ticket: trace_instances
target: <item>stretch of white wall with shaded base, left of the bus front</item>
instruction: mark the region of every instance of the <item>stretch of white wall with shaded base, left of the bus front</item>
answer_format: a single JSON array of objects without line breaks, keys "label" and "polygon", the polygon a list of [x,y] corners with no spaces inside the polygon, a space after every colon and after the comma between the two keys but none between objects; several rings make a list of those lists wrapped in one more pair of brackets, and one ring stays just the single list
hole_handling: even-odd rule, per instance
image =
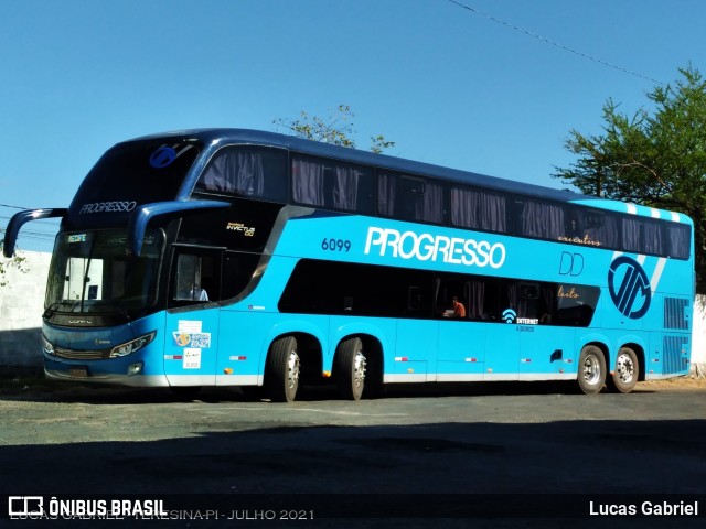
[{"label": "stretch of white wall with shaded base, left of the bus front", "polygon": [[[21,269],[6,264],[0,287],[0,371],[34,370],[42,367],[41,337],[44,291],[50,253],[19,251],[26,260]],[[23,272],[22,270],[26,270]]]}]

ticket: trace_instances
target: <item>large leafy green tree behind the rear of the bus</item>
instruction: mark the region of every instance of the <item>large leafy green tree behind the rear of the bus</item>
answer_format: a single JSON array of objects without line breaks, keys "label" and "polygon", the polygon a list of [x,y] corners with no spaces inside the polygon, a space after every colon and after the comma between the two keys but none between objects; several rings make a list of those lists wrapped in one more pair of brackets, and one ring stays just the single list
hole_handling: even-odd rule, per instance
[{"label": "large leafy green tree behind the rear of the bus", "polygon": [[678,72],[646,95],[649,109],[624,115],[608,99],[603,133],[571,130],[565,147],[578,159],[554,176],[589,195],[692,217],[697,292],[706,293],[706,82],[691,66]]}]

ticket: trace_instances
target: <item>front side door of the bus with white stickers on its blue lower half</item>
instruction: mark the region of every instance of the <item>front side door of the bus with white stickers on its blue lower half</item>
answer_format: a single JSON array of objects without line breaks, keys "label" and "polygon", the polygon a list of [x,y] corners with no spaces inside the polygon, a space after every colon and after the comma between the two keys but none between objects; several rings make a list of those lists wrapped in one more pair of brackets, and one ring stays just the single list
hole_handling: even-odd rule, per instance
[{"label": "front side door of the bus with white stickers on its blue lower half", "polygon": [[170,276],[164,373],[172,386],[213,386],[222,252],[178,247]]}]

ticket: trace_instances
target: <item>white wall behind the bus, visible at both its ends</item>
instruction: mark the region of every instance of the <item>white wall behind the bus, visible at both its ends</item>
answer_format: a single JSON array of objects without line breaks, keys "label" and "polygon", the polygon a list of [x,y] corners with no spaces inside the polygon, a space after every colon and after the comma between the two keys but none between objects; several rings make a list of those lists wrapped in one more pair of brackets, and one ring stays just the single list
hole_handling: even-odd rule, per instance
[{"label": "white wall behind the bus, visible at both its ends", "polygon": [[[41,326],[50,253],[20,252],[26,258],[23,273],[6,272],[8,284],[0,287],[0,371],[41,368]],[[706,375],[706,296],[694,306],[692,366]]]}]

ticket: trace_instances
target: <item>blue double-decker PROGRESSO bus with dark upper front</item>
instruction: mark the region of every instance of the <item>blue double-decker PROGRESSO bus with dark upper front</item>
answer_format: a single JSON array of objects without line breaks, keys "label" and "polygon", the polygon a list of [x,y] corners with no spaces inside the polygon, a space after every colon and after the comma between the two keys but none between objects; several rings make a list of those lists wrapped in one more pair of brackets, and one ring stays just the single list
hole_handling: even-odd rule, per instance
[{"label": "blue double-decker PROGRESSO bus with dark upper front", "polygon": [[52,379],[264,387],[688,373],[685,215],[240,129],[109,149],[61,217]]}]

